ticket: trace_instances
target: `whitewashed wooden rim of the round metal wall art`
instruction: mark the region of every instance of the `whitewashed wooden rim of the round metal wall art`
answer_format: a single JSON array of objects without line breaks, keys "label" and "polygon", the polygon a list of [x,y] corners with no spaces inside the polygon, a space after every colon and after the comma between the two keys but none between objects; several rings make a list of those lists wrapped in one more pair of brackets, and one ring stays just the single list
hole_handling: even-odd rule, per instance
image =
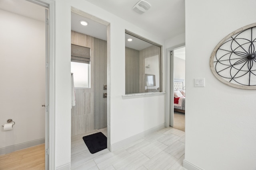
[{"label": "whitewashed wooden rim of the round metal wall art", "polygon": [[214,48],[214,50],[212,51],[212,54],[211,54],[211,57],[210,57],[210,68],[212,70],[212,73],[214,74],[214,76],[216,78],[218,78],[218,80],[220,80],[221,82],[223,82],[224,84],[227,84],[228,86],[232,86],[232,87],[235,87],[235,88],[242,88],[242,89],[256,89],[256,86],[247,86],[247,85],[238,85],[238,84],[233,84],[233,83],[230,83],[226,80],[224,80],[222,78],[222,76],[220,76],[216,70],[215,70],[215,67],[214,67],[214,57],[216,55],[216,52],[217,50],[219,49],[219,47],[226,42],[226,40],[230,37],[232,37],[233,35],[236,35],[248,28],[251,28],[251,27],[256,27],[256,23],[252,23],[250,25],[246,25],[244,27],[241,27],[239,29],[237,29],[236,31],[233,31],[232,33],[230,33],[229,35],[227,35],[226,37],[224,37],[224,39],[222,39],[217,45],[216,47]]}]

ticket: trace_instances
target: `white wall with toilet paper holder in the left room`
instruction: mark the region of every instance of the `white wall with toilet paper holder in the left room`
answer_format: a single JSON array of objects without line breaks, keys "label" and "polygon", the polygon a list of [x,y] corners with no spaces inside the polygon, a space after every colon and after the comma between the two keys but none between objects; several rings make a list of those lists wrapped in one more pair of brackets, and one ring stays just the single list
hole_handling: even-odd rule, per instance
[{"label": "white wall with toilet paper holder in the left room", "polygon": [[43,139],[45,100],[44,22],[0,10],[0,149]]}]

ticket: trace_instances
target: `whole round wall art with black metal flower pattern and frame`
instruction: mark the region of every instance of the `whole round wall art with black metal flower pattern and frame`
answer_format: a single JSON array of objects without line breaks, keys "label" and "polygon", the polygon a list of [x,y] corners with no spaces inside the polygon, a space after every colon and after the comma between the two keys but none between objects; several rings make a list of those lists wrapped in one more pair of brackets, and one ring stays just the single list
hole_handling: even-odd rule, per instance
[{"label": "whole round wall art with black metal flower pattern and frame", "polygon": [[222,39],[212,51],[210,68],[229,86],[256,89],[256,23]]}]

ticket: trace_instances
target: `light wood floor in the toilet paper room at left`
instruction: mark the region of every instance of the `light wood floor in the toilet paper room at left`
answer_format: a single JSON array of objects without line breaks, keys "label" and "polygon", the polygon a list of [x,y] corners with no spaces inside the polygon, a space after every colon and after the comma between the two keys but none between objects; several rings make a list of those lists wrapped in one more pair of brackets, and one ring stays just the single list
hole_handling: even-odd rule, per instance
[{"label": "light wood floor in the toilet paper room at left", "polygon": [[0,156],[0,170],[44,170],[44,144]]}]

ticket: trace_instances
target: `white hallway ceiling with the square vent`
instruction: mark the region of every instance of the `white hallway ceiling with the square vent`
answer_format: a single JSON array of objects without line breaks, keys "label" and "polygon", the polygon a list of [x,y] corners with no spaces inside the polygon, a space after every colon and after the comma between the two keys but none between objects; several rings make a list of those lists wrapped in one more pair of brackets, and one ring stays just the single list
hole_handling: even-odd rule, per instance
[{"label": "white hallway ceiling with the square vent", "polygon": [[86,1],[165,40],[185,33],[185,0],[146,0],[151,8],[144,14],[132,10],[139,0]]}]

